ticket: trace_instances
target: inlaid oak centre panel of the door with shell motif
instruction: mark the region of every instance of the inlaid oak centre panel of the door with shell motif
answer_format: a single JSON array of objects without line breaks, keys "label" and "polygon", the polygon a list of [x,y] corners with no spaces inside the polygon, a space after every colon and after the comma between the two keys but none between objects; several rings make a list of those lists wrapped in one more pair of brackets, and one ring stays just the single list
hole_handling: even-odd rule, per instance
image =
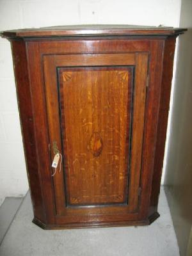
[{"label": "inlaid oak centre panel of the door with shell motif", "polygon": [[67,205],[127,204],[133,70],[58,68]]}]

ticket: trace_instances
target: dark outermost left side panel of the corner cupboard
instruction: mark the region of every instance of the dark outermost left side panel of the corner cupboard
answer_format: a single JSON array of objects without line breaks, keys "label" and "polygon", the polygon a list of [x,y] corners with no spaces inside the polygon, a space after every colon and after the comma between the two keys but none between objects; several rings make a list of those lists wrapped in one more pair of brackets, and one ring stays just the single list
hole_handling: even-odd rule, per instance
[{"label": "dark outermost left side panel of the corner cupboard", "polygon": [[15,83],[17,88],[17,100],[19,104],[22,140],[26,157],[29,189],[33,203],[33,211],[36,218],[45,220],[42,201],[42,191],[38,176],[38,164],[36,162],[35,136],[33,129],[33,112],[31,107],[31,95],[28,77],[28,62],[26,56],[26,44],[23,41],[12,41],[13,66]]}]

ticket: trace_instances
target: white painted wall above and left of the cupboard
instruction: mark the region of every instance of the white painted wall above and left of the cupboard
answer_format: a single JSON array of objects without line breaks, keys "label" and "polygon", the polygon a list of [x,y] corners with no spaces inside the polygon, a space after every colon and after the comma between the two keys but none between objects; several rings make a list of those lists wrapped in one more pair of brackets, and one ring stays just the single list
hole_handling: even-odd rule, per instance
[{"label": "white painted wall above and left of the cupboard", "polygon": [[[0,31],[66,24],[179,26],[180,0],[0,0]],[[0,204],[28,189],[10,43],[0,38]]]}]

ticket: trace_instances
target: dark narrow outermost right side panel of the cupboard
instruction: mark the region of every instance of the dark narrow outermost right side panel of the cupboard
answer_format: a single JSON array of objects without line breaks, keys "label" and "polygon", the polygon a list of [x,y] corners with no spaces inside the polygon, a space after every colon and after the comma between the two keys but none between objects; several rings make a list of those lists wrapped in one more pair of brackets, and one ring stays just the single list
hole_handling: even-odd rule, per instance
[{"label": "dark narrow outermost right side panel of the cupboard", "polygon": [[161,84],[161,101],[159,108],[159,121],[157,128],[156,153],[154,159],[154,175],[152,180],[152,194],[150,198],[150,211],[157,210],[159,198],[161,173],[163,168],[164,145],[170,107],[170,92],[173,76],[173,59],[175,52],[175,37],[168,38],[164,44],[163,74]]}]

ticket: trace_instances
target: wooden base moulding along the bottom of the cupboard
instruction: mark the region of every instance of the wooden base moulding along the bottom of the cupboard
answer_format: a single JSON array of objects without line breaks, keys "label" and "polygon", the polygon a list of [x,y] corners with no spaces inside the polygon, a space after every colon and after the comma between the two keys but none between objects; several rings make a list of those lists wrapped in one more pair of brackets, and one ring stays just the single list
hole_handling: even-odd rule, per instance
[{"label": "wooden base moulding along the bottom of the cupboard", "polygon": [[146,220],[130,220],[130,221],[113,221],[113,222],[97,222],[97,223],[66,223],[66,224],[45,224],[37,218],[33,219],[33,223],[45,230],[52,229],[71,229],[71,228],[101,228],[101,227],[127,227],[127,226],[146,226],[150,225],[157,218],[159,213],[154,212]]}]

